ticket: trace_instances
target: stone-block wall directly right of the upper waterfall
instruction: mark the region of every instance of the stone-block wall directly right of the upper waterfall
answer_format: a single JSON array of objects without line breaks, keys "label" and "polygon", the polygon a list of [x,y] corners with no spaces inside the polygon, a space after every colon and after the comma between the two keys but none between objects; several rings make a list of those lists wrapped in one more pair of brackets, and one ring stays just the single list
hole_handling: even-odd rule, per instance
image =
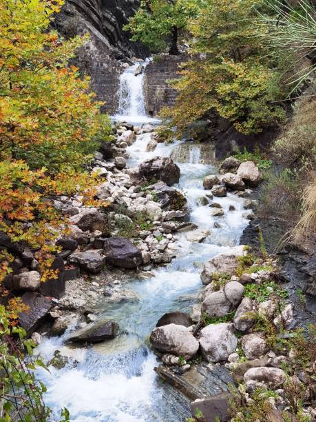
[{"label": "stone-block wall directly right of the upper waterfall", "polygon": [[164,106],[173,106],[176,90],[170,88],[167,81],[178,77],[178,66],[185,57],[163,56],[158,61],[151,61],[144,75],[144,92],[146,112],[155,116]]}]

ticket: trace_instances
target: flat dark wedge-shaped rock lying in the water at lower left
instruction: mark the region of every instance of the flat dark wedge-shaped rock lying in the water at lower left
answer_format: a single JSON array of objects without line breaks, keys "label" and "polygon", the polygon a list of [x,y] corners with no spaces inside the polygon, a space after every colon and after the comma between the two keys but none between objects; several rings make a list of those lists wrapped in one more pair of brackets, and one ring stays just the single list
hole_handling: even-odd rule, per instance
[{"label": "flat dark wedge-shaped rock lying in the water at lower left", "polygon": [[98,321],[90,323],[81,330],[76,330],[68,337],[67,341],[75,343],[98,343],[107,339],[114,339],[118,330],[115,321]]}]

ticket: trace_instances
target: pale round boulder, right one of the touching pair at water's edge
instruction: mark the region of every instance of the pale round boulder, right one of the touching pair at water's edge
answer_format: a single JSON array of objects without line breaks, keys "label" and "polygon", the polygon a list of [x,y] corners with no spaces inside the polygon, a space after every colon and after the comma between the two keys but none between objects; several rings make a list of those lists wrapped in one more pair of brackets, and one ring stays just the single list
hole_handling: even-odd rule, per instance
[{"label": "pale round boulder, right one of the touching pair at water's edge", "polygon": [[200,332],[202,356],[209,362],[227,361],[236,347],[237,337],[231,323],[210,324]]}]

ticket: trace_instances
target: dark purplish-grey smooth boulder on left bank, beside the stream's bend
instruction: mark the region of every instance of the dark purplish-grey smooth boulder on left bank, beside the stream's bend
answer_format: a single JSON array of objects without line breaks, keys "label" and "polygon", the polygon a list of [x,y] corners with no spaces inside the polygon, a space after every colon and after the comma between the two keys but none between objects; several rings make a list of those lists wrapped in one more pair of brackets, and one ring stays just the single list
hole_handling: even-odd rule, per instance
[{"label": "dark purplish-grey smooth boulder on left bank, beside the stream's bend", "polygon": [[125,237],[106,239],[103,248],[106,263],[114,267],[136,268],[143,263],[140,250]]}]

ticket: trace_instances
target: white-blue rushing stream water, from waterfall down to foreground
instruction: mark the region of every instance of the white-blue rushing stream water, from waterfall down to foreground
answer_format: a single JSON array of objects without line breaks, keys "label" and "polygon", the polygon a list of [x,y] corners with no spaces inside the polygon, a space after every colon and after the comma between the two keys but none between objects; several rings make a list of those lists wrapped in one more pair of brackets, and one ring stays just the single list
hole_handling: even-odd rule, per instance
[{"label": "white-blue rushing stream water, from waterfall down to foreground", "polygon": [[[152,122],[145,116],[143,75],[134,76],[136,65],[127,69],[121,79],[120,121]],[[129,115],[130,114],[130,115]],[[146,152],[150,134],[138,135],[129,150],[129,166],[155,155],[177,159],[180,141],[159,143],[154,152]],[[100,305],[103,316],[115,319],[120,332],[114,340],[87,348],[72,350],[72,361],[65,368],[50,368],[41,372],[48,387],[45,402],[52,408],[52,420],[59,420],[60,410],[66,407],[76,422],[177,422],[183,416],[174,414],[166,399],[164,386],[158,383],[154,367],[156,356],[148,347],[148,336],[156,321],[171,310],[191,311],[202,288],[202,263],[238,244],[247,220],[243,217],[243,199],[231,194],[216,198],[224,209],[224,217],[211,217],[212,208],[200,205],[200,198],[209,193],[202,186],[203,177],[215,174],[211,164],[200,162],[200,148],[191,145],[189,162],[178,163],[181,177],[178,188],[187,197],[191,221],[200,230],[209,231],[203,243],[189,242],[185,234],[178,240],[178,257],[165,267],[152,272],[151,277],[133,278],[124,287],[138,294],[138,301]],[[229,205],[235,210],[229,211]],[[218,221],[221,228],[215,229]],[[47,338],[39,352],[50,359],[54,350],[64,348],[62,337]],[[188,415],[189,416],[189,415]]]}]

